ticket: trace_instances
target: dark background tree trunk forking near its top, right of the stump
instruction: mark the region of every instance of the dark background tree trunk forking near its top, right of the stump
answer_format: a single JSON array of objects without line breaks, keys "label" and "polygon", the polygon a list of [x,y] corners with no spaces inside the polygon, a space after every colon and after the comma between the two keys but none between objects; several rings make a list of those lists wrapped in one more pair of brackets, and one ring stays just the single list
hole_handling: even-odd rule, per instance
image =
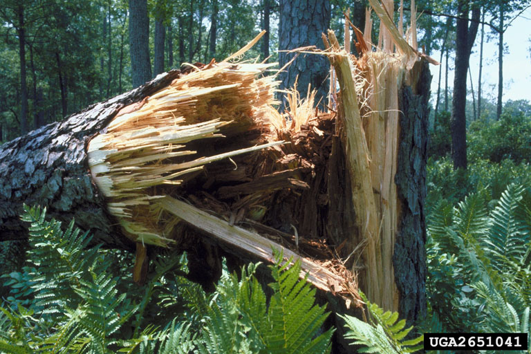
[{"label": "dark background tree trunk forking near its top, right of the stump", "polygon": [[[457,1],[456,61],[454,93],[451,101],[451,157],[454,161],[454,169],[467,168],[467,118],[465,115],[467,71],[481,15],[480,8],[470,9],[469,5],[467,0]],[[470,10],[472,10],[472,21],[469,21]]]}]

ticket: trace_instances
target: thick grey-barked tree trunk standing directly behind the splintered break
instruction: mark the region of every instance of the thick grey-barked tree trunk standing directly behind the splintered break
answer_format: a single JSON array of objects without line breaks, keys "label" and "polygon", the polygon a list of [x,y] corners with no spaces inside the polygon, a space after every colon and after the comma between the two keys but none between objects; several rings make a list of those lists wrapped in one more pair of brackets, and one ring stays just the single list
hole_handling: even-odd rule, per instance
[{"label": "thick grey-barked tree trunk standing directly behind the splintered break", "polygon": [[[323,48],[321,34],[330,26],[330,2],[328,0],[280,0],[279,50],[291,50],[304,46]],[[295,54],[280,52],[279,66],[288,64]],[[330,65],[324,56],[299,55],[280,74],[280,87],[290,88],[297,81],[297,88],[306,95],[308,84],[317,90],[315,102],[324,104],[328,93]]]}]

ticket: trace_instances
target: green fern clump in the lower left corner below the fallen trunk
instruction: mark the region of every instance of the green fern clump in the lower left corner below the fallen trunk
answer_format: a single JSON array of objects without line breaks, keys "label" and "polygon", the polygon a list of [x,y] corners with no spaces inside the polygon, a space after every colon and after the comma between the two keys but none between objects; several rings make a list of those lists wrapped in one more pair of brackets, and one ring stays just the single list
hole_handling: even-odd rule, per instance
[{"label": "green fern clump in the lower left corner below the fallen trunk", "polygon": [[46,209],[24,209],[22,220],[31,225],[25,273],[30,281],[23,284],[32,290],[32,300],[29,310],[17,299],[10,306],[18,306],[18,313],[3,310],[11,328],[19,328],[6,343],[27,342],[30,353],[110,353],[117,342],[113,335],[136,306],[124,301],[124,293],[118,295],[117,279],[106,271],[99,246],[87,249],[91,236],[73,221],[63,232],[58,221],[46,221]]}]

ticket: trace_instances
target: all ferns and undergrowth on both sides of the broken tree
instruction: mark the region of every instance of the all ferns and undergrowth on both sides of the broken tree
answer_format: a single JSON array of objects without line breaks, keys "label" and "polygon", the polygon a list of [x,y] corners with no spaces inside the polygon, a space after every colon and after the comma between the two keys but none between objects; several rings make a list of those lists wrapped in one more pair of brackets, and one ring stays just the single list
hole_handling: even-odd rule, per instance
[{"label": "all ferns and undergrowth on both sides of the broken tree", "polygon": [[[412,353],[427,331],[530,333],[530,117],[472,122],[466,171],[440,148],[449,134],[444,115],[438,122],[427,169],[427,319],[407,328],[367,301],[368,322],[342,317],[360,353]],[[26,261],[2,278],[2,353],[330,352],[337,328],[324,325],[330,314],[298,278],[299,263],[288,269],[281,254],[268,267],[225,268],[212,294],[183,277],[185,254],[162,254],[138,286],[131,254],[86,248],[91,236],[73,223],[65,230],[45,210],[25,209]]]}]

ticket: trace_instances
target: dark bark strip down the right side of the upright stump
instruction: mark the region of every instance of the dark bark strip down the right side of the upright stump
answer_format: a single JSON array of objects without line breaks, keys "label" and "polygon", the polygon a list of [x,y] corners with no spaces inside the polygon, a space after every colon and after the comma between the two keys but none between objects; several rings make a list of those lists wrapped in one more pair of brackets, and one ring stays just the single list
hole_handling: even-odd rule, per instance
[{"label": "dark bark strip down the right side of the upright stump", "polygon": [[[415,88],[404,86],[400,101],[400,147],[395,176],[401,201],[400,225],[393,253],[399,312],[408,325],[426,316],[426,161],[431,74],[425,61]],[[415,68],[413,68],[413,71]],[[416,93],[414,92],[416,91]]]}]

